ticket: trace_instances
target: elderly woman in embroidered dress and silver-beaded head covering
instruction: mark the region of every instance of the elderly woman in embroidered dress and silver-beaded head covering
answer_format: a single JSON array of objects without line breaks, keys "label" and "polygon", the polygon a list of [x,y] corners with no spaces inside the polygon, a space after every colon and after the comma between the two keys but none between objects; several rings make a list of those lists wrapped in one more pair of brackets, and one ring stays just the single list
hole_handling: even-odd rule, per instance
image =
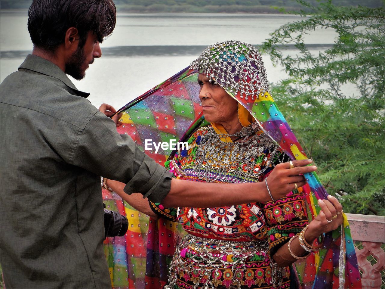
[{"label": "elderly woman in embroidered dress and silver-beaded head covering", "polygon": [[[271,171],[292,168],[291,160],[305,156],[271,99],[258,50],[236,41],[218,43],[192,62],[191,71],[198,74],[204,117],[187,130],[182,140],[189,146],[171,155],[166,168],[185,180],[264,182],[271,193]],[[314,185],[312,177],[306,175]],[[165,208],[134,200],[114,181],[108,184],[143,212],[179,222],[186,231],[165,288],[290,288],[300,283],[311,287],[318,278],[315,256],[323,246],[323,234],[343,223],[336,198],[311,201],[309,196],[322,196],[321,186],[294,183],[288,196],[275,200],[271,195],[266,203]],[[305,258],[307,268],[300,263]],[[297,260],[302,272],[288,267]],[[325,276],[317,288],[332,287],[333,277]]]}]

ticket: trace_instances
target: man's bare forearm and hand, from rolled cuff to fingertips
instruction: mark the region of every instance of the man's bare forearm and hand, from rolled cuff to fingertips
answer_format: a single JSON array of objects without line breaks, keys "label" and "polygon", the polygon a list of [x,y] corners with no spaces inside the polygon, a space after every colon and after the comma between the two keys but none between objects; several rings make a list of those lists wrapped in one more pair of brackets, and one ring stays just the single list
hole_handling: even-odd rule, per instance
[{"label": "man's bare forearm and hand, from rolled cuff to fingertips", "polygon": [[[301,174],[316,170],[316,166],[306,166],[311,160],[293,161],[295,168],[290,168],[289,163],[276,165],[267,177],[268,186],[274,199],[284,197],[295,188],[306,184]],[[125,184],[117,181],[108,181],[108,185],[122,198],[128,198],[123,191]],[[149,195],[151,200],[151,195]],[[147,200],[143,200],[147,203]],[[266,188],[266,183],[205,183],[188,180],[171,180],[171,189],[162,200],[164,207],[195,207],[208,208],[229,205],[238,205],[251,202],[268,202],[271,197]]]}]

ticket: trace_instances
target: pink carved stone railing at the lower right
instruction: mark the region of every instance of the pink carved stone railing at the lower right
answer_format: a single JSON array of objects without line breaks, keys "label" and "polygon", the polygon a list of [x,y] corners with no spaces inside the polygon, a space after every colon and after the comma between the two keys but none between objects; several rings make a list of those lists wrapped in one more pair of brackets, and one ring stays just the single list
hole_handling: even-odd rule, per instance
[{"label": "pink carved stone railing at the lower right", "polygon": [[363,289],[385,289],[385,217],[346,214]]}]

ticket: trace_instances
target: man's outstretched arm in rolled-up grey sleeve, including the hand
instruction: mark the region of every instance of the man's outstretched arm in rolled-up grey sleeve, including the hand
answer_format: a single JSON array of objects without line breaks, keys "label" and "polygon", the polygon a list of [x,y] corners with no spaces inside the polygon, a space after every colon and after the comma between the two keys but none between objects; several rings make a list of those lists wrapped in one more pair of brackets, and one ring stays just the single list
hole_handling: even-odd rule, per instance
[{"label": "man's outstretched arm in rolled-up grey sleeve, including the hand", "polygon": [[[100,109],[104,113],[106,109],[114,110],[108,105]],[[96,113],[80,136],[74,164],[125,183],[122,194],[141,193],[165,207],[208,208],[271,200],[265,182],[225,184],[172,178],[166,168],[143,153],[129,136],[120,136],[116,125]],[[296,186],[305,185],[302,174],[316,170],[315,166],[306,166],[310,163],[311,160],[296,160],[295,168],[290,168],[289,163],[276,165],[266,178],[273,198],[282,198]]]}]

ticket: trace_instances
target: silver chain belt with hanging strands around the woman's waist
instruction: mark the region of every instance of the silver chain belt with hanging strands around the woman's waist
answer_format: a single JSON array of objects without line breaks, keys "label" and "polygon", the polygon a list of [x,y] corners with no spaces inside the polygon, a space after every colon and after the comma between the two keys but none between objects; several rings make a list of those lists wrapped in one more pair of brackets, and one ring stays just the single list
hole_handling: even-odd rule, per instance
[{"label": "silver chain belt with hanging strands around the woman's waist", "polygon": [[[259,260],[268,260],[269,245],[267,240],[252,242],[234,242],[196,237],[190,234],[184,236],[176,247],[170,264],[169,284],[164,289],[175,288],[177,275],[199,275],[194,281],[194,288],[214,288],[212,279],[219,268],[231,268],[233,276],[239,271],[245,271],[245,262],[255,255]],[[272,261],[272,260],[271,260]],[[277,267],[271,262],[272,277],[278,277]],[[192,280],[192,278],[189,278]],[[273,278],[276,279],[276,278]],[[204,284],[199,281],[204,280]],[[236,283],[236,279],[233,279]],[[278,281],[276,279],[275,281]],[[278,281],[279,282],[279,281]]]}]

